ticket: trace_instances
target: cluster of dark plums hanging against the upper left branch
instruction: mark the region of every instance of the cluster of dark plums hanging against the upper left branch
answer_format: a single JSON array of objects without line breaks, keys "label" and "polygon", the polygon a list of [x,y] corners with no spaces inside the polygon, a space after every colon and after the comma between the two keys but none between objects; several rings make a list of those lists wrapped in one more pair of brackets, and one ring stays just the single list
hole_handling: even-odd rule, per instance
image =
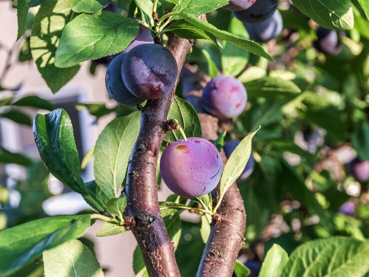
[{"label": "cluster of dark plums hanging against the upper left branch", "polygon": [[107,66],[105,85],[116,102],[134,106],[168,95],[177,74],[173,54],[154,44],[150,31],[140,25],[133,41]]}]

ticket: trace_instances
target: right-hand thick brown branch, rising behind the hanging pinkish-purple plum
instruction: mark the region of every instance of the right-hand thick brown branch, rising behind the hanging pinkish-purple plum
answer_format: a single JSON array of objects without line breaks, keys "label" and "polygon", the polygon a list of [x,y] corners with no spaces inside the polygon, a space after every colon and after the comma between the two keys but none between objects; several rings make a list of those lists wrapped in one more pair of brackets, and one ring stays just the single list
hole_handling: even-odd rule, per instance
[{"label": "right-hand thick brown branch, rising behind the hanging pinkish-purple plum", "polygon": [[[191,97],[189,99],[194,102],[196,102],[196,97],[201,95],[201,88],[198,84],[202,82],[203,77],[200,76],[198,72],[191,72],[188,67],[182,70],[182,83],[185,84],[182,86],[182,93],[185,97]],[[196,78],[199,80],[197,83]],[[206,139],[216,139],[217,124],[214,125],[214,118],[211,115],[200,117],[202,136]],[[221,155],[225,164],[226,157],[223,151],[221,151]],[[214,203],[219,196],[218,192],[219,188],[217,187],[215,189],[216,196],[213,197]],[[197,277],[232,275],[238,251],[243,245],[245,226],[246,212],[243,199],[237,184],[233,183],[225,193],[218,213],[211,223],[210,235],[202,253]]]}]

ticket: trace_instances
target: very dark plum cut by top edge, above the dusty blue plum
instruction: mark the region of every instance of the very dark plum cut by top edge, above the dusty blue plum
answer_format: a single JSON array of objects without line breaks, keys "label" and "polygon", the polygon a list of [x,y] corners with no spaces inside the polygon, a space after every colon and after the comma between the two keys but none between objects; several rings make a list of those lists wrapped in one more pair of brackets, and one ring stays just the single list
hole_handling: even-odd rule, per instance
[{"label": "very dark plum cut by top edge, above the dusty blue plum", "polygon": [[257,0],[251,7],[244,10],[233,11],[233,14],[243,23],[261,23],[273,15],[277,5],[278,0]]}]

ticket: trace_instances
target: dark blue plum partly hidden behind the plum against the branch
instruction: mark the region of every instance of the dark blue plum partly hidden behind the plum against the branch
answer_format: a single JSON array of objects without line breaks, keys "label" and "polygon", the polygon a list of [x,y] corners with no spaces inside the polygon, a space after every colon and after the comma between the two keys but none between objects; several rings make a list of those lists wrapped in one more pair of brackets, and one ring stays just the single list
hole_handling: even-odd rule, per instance
[{"label": "dark blue plum partly hidden behind the plum against the branch", "polygon": [[106,68],[105,85],[110,97],[125,106],[135,106],[142,103],[144,99],[134,96],[125,86],[121,78],[121,64],[126,54],[121,53],[110,61]]}]

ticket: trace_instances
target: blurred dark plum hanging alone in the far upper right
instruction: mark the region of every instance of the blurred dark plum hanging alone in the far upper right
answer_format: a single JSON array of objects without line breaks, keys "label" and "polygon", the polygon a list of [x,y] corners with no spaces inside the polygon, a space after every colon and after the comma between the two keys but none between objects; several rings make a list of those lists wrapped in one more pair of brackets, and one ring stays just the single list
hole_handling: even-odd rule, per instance
[{"label": "blurred dark plum hanging alone in the far upper right", "polygon": [[335,55],[341,49],[341,42],[335,30],[329,30],[319,27],[316,30],[317,39],[314,41],[314,47],[324,54]]}]

